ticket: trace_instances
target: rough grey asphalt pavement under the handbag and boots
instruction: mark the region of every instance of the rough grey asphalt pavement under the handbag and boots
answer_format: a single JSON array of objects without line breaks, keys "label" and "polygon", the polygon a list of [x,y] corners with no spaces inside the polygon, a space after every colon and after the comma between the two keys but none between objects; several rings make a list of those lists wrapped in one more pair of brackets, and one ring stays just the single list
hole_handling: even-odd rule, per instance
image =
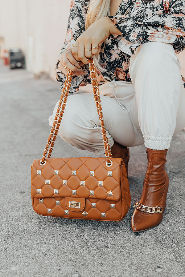
[{"label": "rough grey asphalt pavement under the handbag and boots", "polygon": [[[72,96],[70,96],[72,97]],[[167,208],[157,227],[133,233],[130,219],[142,191],[144,145],[130,148],[132,204],[119,222],[37,215],[31,205],[30,165],[42,156],[48,117],[60,84],[34,79],[0,63],[0,276],[185,276],[185,132],[167,153]],[[92,156],[57,138],[53,157]]]}]

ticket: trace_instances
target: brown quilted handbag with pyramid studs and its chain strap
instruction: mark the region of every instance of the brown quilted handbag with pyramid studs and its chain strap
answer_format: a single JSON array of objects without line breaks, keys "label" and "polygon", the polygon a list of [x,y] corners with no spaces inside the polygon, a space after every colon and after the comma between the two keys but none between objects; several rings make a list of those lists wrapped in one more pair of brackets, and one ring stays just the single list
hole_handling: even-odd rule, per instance
[{"label": "brown quilted handbag with pyramid studs and its chain strap", "polygon": [[31,165],[32,205],[39,215],[118,221],[130,207],[129,183],[123,160],[112,157],[92,58],[88,58],[88,64],[105,157],[51,158],[73,76],[69,70],[42,159]]}]

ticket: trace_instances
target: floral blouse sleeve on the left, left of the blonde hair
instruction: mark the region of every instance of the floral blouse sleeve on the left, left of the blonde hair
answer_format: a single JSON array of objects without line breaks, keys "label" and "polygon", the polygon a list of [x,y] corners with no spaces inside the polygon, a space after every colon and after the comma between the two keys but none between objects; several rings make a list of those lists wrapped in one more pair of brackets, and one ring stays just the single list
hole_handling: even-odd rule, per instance
[{"label": "floral blouse sleeve on the left, left of the blonde hair", "polygon": [[[67,33],[64,41],[64,45],[62,46],[62,49],[60,51],[60,56],[62,56],[62,53],[68,49],[71,48],[75,42],[76,39],[85,31],[84,26],[84,3],[83,0],[71,0],[70,4],[70,13],[68,18],[68,27],[67,27]],[[56,73],[56,79],[58,82],[61,82],[61,89],[64,86],[64,82],[66,79],[66,76],[64,73],[61,72],[61,70],[58,68],[59,60],[55,67],[55,73]],[[71,87],[69,92],[74,93],[79,90],[79,86],[86,86],[88,83],[91,82],[89,71],[87,65],[84,65],[84,72],[86,72],[86,75],[82,76],[74,76],[72,78]]]}]

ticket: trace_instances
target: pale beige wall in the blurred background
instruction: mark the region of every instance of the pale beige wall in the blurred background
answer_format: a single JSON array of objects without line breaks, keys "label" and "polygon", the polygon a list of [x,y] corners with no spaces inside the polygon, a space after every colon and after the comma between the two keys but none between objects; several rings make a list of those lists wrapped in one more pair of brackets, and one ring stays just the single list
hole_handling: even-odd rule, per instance
[{"label": "pale beige wall in the blurred background", "polygon": [[[0,50],[21,48],[27,69],[55,79],[64,42],[70,0],[0,0]],[[185,76],[185,51],[179,54]]]}]

